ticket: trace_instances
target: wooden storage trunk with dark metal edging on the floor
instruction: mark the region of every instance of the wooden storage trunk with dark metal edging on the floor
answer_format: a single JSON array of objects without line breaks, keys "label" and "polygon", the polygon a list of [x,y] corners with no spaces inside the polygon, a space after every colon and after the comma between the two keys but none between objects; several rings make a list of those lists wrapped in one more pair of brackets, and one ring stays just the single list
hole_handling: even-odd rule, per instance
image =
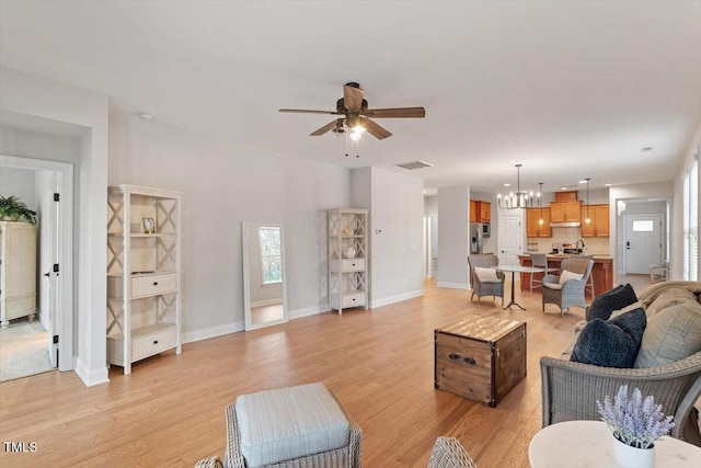
[{"label": "wooden storage trunk with dark metal edging on the floor", "polygon": [[435,331],[434,386],[496,407],[526,377],[526,322],[472,316]]}]

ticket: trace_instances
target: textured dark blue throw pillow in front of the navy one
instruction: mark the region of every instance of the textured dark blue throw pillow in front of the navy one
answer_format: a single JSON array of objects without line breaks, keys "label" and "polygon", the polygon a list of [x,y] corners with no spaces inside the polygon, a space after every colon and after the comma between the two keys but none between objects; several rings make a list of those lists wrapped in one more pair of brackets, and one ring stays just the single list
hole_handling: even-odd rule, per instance
[{"label": "textured dark blue throw pillow in front of the navy one", "polygon": [[602,367],[633,367],[646,324],[642,307],[606,322],[594,319],[582,329],[570,361]]}]

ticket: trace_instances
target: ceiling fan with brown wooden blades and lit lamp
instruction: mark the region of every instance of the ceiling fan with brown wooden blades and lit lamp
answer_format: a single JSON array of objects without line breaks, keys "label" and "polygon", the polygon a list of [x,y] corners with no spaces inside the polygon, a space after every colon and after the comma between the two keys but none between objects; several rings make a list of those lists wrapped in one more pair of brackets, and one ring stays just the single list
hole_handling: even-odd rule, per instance
[{"label": "ceiling fan with brown wooden blades and lit lamp", "polygon": [[346,130],[352,132],[352,136],[359,137],[363,132],[368,132],[378,139],[391,137],[392,134],[370,119],[372,118],[423,118],[426,116],[424,107],[393,107],[393,109],[368,109],[368,102],[363,99],[365,91],[360,84],[349,82],[343,85],[343,98],[336,101],[335,111],[309,111],[303,109],[280,109],[279,112],[292,112],[298,114],[331,114],[343,115],[341,118],[331,121],[323,127],[309,134],[320,136],[331,130],[335,135],[343,135]]}]

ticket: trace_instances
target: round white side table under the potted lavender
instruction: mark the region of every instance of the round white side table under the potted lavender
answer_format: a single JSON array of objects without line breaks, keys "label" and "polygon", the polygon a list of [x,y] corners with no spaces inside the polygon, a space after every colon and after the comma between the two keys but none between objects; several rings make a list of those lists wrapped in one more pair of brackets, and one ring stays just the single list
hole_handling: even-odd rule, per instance
[{"label": "round white side table under the potted lavender", "polygon": [[[611,430],[602,421],[565,421],[541,429],[530,441],[532,468],[616,467]],[[655,443],[655,467],[699,468],[701,447],[665,436]]]}]

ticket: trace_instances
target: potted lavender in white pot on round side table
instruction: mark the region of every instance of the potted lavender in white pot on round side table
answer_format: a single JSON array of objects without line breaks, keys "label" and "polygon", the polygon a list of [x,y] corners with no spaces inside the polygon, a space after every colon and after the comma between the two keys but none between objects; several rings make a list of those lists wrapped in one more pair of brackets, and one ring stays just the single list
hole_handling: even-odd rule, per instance
[{"label": "potted lavender in white pot on round side table", "polygon": [[655,441],[669,433],[673,416],[662,412],[651,395],[643,399],[639,388],[628,396],[628,385],[619,388],[611,403],[607,395],[604,404],[596,402],[601,420],[613,433],[613,456],[623,467],[653,467]]}]

